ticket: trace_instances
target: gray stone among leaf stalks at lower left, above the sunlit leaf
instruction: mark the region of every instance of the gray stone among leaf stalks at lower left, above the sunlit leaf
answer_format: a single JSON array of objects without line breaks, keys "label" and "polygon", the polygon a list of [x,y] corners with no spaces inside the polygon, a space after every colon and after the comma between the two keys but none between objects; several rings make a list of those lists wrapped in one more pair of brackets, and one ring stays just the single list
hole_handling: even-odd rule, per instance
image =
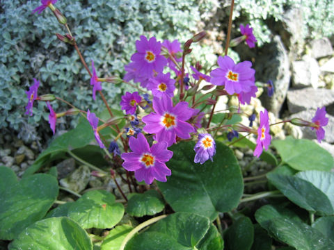
[{"label": "gray stone among leaf stalks at lower left, above the sunlit leaf", "polygon": [[66,178],[62,178],[59,183],[64,188],[69,188],[70,190],[79,193],[86,188],[89,179],[90,170],[87,166],[82,165]]}]

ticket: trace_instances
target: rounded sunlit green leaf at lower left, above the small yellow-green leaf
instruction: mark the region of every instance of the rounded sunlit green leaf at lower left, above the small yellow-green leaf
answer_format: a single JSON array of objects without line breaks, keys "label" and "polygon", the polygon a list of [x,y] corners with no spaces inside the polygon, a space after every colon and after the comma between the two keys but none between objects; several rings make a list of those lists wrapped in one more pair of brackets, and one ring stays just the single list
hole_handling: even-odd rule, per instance
[{"label": "rounded sunlit green leaf at lower left, above the small yellow-green leaf", "polygon": [[105,190],[87,192],[72,203],[68,217],[83,228],[112,228],[124,214],[124,206]]}]

